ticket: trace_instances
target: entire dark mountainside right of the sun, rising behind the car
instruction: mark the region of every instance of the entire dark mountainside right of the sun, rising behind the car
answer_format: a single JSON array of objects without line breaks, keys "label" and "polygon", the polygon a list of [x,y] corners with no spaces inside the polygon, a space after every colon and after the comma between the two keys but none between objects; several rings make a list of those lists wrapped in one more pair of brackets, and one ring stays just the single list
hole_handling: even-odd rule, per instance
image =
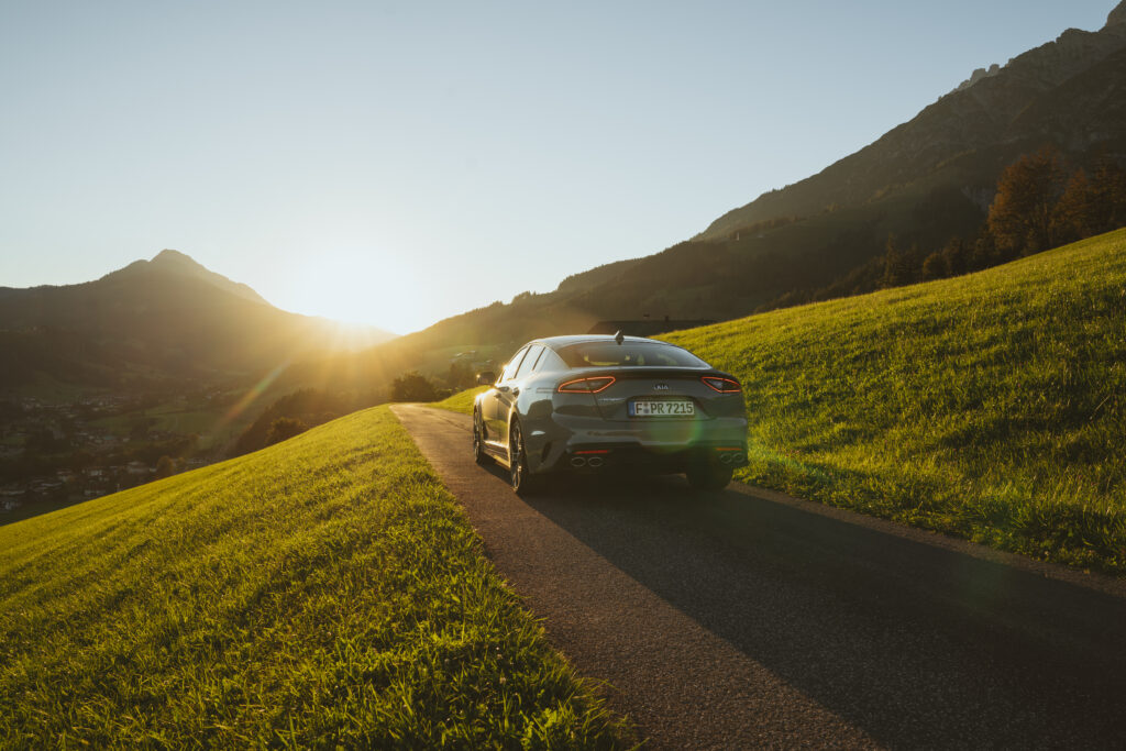
[{"label": "entire dark mountainside right of the sun, rising behind the car", "polygon": [[890,235],[923,253],[974,236],[1001,171],[1045,144],[1071,169],[1126,162],[1126,2],[1102,29],[1069,29],[975,71],[875,143],[723,214],[690,240],[441,321],[400,345],[516,345],[599,320],[726,320],[787,294],[830,285],[847,294],[842,280],[870,267]]}]

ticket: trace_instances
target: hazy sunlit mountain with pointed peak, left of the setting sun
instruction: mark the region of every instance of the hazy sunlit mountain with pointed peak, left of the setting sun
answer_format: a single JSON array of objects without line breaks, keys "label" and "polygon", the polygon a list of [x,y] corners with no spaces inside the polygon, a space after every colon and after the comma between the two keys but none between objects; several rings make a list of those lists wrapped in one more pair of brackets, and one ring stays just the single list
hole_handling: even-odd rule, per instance
[{"label": "hazy sunlit mountain with pointed peak, left of the setting sun", "polygon": [[0,322],[7,387],[43,377],[129,388],[243,381],[393,337],[278,310],[175,250],[96,281],[0,288]]}]

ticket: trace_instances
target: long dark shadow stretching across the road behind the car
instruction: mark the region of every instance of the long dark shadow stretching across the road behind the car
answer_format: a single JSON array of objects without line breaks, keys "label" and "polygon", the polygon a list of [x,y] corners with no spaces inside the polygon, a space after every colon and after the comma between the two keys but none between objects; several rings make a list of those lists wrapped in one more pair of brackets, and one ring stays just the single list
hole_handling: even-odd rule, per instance
[{"label": "long dark shadow stretching across the road behind the car", "polygon": [[524,502],[885,745],[1126,737],[1120,598],[680,479]]}]

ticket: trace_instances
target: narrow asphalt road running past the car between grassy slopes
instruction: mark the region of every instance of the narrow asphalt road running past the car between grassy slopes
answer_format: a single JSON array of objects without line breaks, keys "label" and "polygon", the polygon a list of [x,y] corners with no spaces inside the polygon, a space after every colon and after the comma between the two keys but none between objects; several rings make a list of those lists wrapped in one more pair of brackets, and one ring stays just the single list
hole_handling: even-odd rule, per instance
[{"label": "narrow asphalt road running past the car between grassy slopes", "polygon": [[1121,581],[739,483],[525,500],[468,417],[394,411],[645,748],[1126,748]]}]

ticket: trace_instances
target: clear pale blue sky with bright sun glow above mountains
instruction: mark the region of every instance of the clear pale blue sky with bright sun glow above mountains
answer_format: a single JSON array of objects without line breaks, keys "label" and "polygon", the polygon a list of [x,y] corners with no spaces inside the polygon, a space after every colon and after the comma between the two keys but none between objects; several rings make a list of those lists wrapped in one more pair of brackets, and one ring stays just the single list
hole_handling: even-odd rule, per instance
[{"label": "clear pale blue sky with bright sun glow above mountains", "polygon": [[1115,0],[0,0],[0,286],[408,333],[659,252]]}]

